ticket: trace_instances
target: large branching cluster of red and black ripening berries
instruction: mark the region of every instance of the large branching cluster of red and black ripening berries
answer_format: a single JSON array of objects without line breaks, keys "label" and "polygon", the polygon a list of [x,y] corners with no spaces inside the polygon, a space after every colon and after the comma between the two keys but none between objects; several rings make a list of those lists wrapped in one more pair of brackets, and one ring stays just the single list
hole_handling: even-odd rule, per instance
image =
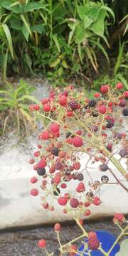
[{"label": "large branching cluster of red and black ripening berries", "polygon": [[[92,99],[69,85],[63,91],[51,89],[49,97],[42,99],[40,105],[29,107],[32,115],[36,112],[36,118],[43,119],[45,127],[38,135],[38,150],[30,160],[38,175],[38,178],[31,178],[31,183],[41,181],[41,191],[32,188],[31,195],[41,195],[44,209],[55,210],[53,201],[56,200],[63,213],[75,213],[75,220],[82,227],[80,223],[91,214],[91,206],[102,203],[101,187],[112,183],[109,173],[115,178],[115,184],[128,192],[125,183],[110,169],[112,162],[124,181],[128,180],[127,171],[122,166],[122,158],[128,156],[125,125],[123,127],[128,115],[127,99],[128,92],[123,91],[122,83],[114,88],[102,85]],[[115,144],[119,144],[116,149]],[[82,166],[82,155],[87,159],[85,166]],[[119,160],[114,155],[118,155]],[[91,176],[90,165],[99,171],[100,180]],[[89,182],[85,174],[89,176]],[[74,188],[73,193],[68,192],[70,186]],[[52,204],[49,203],[51,197]],[[122,222],[115,217],[117,219]],[[55,231],[60,232],[60,224],[55,225]],[[45,247],[44,240],[38,246]],[[90,250],[100,247],[95,233],[89,234],[88,247]],[[70,255],[75,250],[75,246],[72,247]],[[55,250],[53,255],[60,255],[60,252]]]}]

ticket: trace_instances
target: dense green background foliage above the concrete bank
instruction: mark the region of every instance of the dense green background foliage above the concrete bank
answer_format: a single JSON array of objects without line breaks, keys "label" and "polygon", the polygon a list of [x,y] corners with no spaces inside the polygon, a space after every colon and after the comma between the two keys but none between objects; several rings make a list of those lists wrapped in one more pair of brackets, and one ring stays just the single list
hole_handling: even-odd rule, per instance
[{"label": "dense green background foliage above the concrete bank", "polygon": [[124,26],[126,37],[127,6],[126,0],[0,0],[4,80],[14,73],[41,73],[63,84],[67,76],[88,78],[93,70],[98,73],[101,54],[110,63],[110,42],[119,41],[117,26]]}]

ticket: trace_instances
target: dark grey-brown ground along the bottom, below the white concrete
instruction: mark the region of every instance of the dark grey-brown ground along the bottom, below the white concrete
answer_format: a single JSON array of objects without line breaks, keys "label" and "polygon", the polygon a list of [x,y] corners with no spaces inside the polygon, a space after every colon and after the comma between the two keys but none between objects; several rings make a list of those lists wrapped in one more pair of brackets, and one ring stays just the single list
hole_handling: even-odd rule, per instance
[{"label": "dark grey-brown ground along the bottom, below the white concrete", "polygon": [[[87,231],[107,230],[113,233],[116,237],[119,235],[119,229],[112,223],[112,221],[87,223],[85,228]],[[70,239],[76,238],[80,234],[80,230],[76,225],[68,223],[68,225],[63,226],[61,241],[65,244]],[[45,256],[46,252],[40,250],[37,246],[38,240],[41,238],[46,239],[49,252],[58,249],[58,240],[53,231],[53,227],[51,226],[28,230],[10,230],[9,232],[3,231],[0,234],[0,256]]]}]

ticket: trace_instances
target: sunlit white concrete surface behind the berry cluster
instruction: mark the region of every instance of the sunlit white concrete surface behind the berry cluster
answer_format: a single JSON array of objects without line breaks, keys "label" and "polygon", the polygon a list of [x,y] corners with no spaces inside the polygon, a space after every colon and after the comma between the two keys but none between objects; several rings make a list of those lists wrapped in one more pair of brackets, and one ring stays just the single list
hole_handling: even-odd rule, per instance
[{"label": "sunlit white concrete surface behind the berry cluster", "polygon": [[[30,139],[31,142],[31,139]],[[30,151],[26,154],[23,146],[4,146],[0,155],[0,229],[25,225],[37,225],[52,223],[55,221],[69,220],[70,216],[62,213],[62,207],[55,203],[55,211],[49,212],[41,207],[41,195],[32,197],[29,194],[31,188],[37,187],[40,191],[40,180],[38,184],[29,182],[31,176],[36,175],[33,167],[28,164],[35,144],[30,143]],[[29,148],[29,144],[28,144]],[[87,161],[87,156],[82,156],[82,168]],[[123,163],[124,168],[127,168]],[[115,171],[115,170],[114,170]],[[114,178],[106,171],[102,173],[97,169],[90,169],[90,174],[98,180],[103,174],[108,174],[110,181]],[[119,176],[118,176],[119,177]],[[85,174],[85,184],[89,180]],[[68,192],[73,191],[73,181],[68,186]],[[86,185],[87,191],[87,185]],[[65,190],[64,190],[65,193]],[[115,212],[128,214],[128,193],[121,186],[105,185],[101,192],[102,204],[91,206],[90,218],[110,216]],[[51,200],[53,203],[53,199]]]}]

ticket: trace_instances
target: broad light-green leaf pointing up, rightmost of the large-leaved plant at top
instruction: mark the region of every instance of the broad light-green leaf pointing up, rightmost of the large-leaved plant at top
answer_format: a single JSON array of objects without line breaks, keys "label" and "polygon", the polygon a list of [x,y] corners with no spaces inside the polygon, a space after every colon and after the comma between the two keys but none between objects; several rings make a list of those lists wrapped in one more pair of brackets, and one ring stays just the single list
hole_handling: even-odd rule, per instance
[{"label": "broad light-green leaf pointing up, rightmost of the large-leaved plant at top", "polygon": [[90,26],[90,30],[98,36],[104,36],[106,11],[100,10],[97,21]]}]

